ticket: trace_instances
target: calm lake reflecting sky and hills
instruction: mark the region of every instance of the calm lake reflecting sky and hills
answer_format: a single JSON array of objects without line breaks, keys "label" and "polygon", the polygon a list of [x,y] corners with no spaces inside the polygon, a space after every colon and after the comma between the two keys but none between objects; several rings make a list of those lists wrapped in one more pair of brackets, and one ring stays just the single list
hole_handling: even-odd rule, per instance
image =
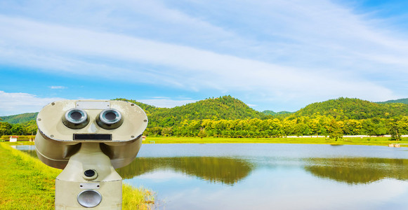
[{"label": "calm lake reflecting sky and hills", "polygon": [[157,209],[408,209],[408,148],[143,144],[117,172]]}]

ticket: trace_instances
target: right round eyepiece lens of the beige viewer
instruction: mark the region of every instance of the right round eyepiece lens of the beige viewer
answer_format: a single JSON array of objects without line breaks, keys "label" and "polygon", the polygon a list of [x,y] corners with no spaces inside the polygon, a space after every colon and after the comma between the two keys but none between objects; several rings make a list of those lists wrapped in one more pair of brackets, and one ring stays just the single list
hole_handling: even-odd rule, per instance
[{"label": "right round eyepiece lens of the beige viewer", "polygon": [[98,118],[96,118],[96,123],[98,123],[100,127],[112,130],[120,127],[123,123],[123,119],[121,113],[116,109],[105,109],[101,111]]}]

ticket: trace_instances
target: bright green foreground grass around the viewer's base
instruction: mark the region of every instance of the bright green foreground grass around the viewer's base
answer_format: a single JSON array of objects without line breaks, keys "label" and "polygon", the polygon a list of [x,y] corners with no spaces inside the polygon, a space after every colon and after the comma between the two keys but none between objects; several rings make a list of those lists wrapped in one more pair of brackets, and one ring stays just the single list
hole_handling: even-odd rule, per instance
[{"label": "bright green foreground grass around the viewer's base", "polygon": [[[15,143],[0,143],[0,209],[54,209],[55,177],[61,170],[8,144]],[[123,209],[152,209],[154,195],[150,191],[126,184],[122,189]]]}]

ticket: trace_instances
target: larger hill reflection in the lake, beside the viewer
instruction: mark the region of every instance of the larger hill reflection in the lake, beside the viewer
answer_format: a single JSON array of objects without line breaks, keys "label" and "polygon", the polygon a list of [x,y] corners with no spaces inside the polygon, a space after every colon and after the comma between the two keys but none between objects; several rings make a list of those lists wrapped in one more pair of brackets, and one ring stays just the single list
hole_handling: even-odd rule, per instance
[{"label": "larger hill reflection in the lake, beside the viewer", "polygon": [[211,183],[233,185],[249,175],[254,166],[246,160],[216,157],[136,158],[130,165],[117,169],[124,179],[173,169],[190,176],[197,176]]}]

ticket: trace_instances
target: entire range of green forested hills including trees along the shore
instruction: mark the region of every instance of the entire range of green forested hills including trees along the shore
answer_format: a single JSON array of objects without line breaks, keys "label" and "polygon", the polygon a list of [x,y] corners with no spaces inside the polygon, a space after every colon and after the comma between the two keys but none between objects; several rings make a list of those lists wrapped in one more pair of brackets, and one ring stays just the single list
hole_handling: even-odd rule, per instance
[{"label": "entire range of green forested hills including trees along the shore", "polygon": [[[149,118],[145,135],[178,137],[287,137],[408,134],[408,104],[379,104],[338,98],[305,106],[295,113],[251,109],[231,96],[158,108],[134,100]],[[34,134],[37,113],[1,117],[0,134]],[[10,124],[10,123],[13,124]],[[17,124],[16,124],[17,123]]]}]

